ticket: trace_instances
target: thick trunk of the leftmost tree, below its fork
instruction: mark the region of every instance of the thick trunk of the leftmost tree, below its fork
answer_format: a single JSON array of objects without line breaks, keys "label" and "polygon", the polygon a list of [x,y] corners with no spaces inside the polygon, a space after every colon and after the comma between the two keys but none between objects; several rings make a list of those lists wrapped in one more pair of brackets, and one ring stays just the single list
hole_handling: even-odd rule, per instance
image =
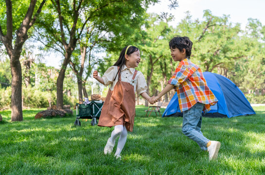
[{"label": "thick trunk of the leftmost tree, below its fork", "polygon": [[20,54],[11,56],[10,67],[12,75],[12,94],[11,94],[11,121],[22,121],[22,74],[19,62]]}]

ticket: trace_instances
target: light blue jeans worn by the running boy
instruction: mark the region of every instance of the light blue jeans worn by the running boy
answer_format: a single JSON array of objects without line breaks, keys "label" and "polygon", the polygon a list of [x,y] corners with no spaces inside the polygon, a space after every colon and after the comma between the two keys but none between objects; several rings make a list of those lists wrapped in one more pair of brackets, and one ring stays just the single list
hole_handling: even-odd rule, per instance
[{"label": "light blue jeans worn by the running boy", "polygon": [[194,140],[202,150],[207,150],[207,143],[210,141],[201,132],[201,113],[204,104],[196,103],[189,110],[183,111],[182,133]]}]

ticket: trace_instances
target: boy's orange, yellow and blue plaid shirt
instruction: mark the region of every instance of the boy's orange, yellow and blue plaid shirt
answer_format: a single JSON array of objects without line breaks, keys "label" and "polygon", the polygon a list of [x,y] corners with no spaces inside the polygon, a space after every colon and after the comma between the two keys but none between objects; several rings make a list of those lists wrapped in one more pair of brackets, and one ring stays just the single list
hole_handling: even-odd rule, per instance
[{"label": "boy's orange, yellow and blue plaid shirt", "polygon": [[199,102],[205,104],[203,111],[207,113],[211,110],[210,106],[215,105],[218,101],[207,86],[201,69],[188,58],[178,64],[168,83],[176,86],[181,112],[190,109]]}]

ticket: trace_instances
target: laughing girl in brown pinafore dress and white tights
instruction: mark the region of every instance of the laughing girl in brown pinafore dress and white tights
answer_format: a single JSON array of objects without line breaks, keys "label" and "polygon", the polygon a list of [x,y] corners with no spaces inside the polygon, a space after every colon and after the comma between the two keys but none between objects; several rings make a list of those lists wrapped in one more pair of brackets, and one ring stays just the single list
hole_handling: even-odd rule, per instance
[{"label": "laughing girl in brown pinafore dress and white tights", "polygon": [[108,138],[104,154],[110,154],[118,136],[116,158],[124,148],[127,131],[133,131],[135,116],[135,91],[146,100],[150,100],[146,93],[147,84],[143,74],[134,68],[141,61],[140,51],[137,47],[127,46],[122,50],[118,61],[108,68],[100,77],[98,71],[93,72],[93,77],[105,86],[110,85],[98,126],[114,126],[111,137]]}]

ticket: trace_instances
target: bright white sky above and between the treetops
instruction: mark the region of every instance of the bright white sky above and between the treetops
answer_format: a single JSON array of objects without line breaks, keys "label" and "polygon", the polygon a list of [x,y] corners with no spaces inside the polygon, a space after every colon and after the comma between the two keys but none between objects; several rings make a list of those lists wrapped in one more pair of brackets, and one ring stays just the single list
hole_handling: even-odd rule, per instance
[{"label": "bright white sky above and between the treetops", "polygon": [[[265,25],[265,0],[178,0],[178,7],[170,10],[168,7],[169,0],[160,0],[160,3],[150,6],[148,13],[168,12],[174,15],[175,19],[171,23],[176,26],[190,12],[193,19],[203,19],[203,11],[211,10],[213,16],[222,17],[230,15],[230,21],[241,23],[241,28],[245,29],[248,18],[259,19]],[[61,54],[47,56],[47,66],[59,68]]]}]

